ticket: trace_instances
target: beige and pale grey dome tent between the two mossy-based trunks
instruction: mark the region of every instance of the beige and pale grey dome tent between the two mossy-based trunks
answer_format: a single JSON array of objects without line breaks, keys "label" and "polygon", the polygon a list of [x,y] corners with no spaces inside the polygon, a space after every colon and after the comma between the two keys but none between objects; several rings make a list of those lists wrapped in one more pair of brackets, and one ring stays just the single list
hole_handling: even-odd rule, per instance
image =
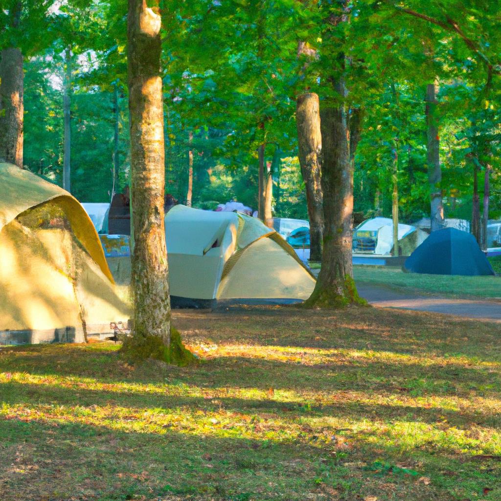
[{"label": "beige and pale grey dome tent between the two mossy-based trunks", "polygon": [[170,294],[182,299],[307,299],[315,279],[259,219],[176,205],[165,216]]}]

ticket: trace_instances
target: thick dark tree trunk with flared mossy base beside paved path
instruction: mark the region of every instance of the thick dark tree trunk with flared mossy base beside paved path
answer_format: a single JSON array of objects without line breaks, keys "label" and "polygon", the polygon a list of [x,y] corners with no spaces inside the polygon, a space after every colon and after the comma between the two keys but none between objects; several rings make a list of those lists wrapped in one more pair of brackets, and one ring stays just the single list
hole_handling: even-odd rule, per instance
[{"label": "thick dark tree trunk with flared mossy base beside paved path", "polygon": [[[334,84],[343,99],[342,81]],[[322,268],[315,290],[305,307],[339,307],[365,303],[353,281],[352,218],[353,163],[350,161],[349,128],[344,105],[326,99],[321,108],[322,193],[324,248]]]}]

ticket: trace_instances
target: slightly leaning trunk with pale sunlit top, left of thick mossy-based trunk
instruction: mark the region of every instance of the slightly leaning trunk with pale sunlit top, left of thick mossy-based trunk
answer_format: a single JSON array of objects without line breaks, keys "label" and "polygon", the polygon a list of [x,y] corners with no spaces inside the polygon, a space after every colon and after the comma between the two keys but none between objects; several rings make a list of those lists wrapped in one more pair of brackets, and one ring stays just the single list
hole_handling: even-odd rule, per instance
[{"label": "slightly leaning trunk with pale sunlit top, left of thick mossy-based trunk", "polygon": [[299,164],[306,187],[310,218],[310,261],[322,260],[324,214],[322,207],[320,105],[318,94],[307,93],[296,101]]}]

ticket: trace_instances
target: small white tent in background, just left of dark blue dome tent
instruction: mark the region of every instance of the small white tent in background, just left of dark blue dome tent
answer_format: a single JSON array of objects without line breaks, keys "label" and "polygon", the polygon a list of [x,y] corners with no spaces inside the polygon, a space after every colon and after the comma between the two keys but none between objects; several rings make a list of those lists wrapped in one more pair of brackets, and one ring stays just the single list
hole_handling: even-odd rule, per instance
[{"label": "small white tent in background, just left of dark blue dome tent", "polygon": [[[410,224],[398,225],[398,239],[415,231]],[[373,217],[359,224],[353,231],[354,252],[369,252],[384,256],[393,248],[393,220],[389,217]]]}]

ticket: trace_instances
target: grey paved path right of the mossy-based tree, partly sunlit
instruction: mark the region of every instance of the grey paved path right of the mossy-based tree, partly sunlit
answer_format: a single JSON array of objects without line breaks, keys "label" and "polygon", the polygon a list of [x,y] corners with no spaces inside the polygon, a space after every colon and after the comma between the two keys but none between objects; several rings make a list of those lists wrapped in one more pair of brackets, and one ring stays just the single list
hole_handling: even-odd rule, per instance
[{"label": "grey paved path right of the mossy-based tree, partly sunlit", "polygon": [[501,323],[501,302],[420,296],[416,293],[399,291],[387,286],[364,283],[358,283],[357,289],[360,296],[374,306],[444,313],[446,315],[486,319]]}]

